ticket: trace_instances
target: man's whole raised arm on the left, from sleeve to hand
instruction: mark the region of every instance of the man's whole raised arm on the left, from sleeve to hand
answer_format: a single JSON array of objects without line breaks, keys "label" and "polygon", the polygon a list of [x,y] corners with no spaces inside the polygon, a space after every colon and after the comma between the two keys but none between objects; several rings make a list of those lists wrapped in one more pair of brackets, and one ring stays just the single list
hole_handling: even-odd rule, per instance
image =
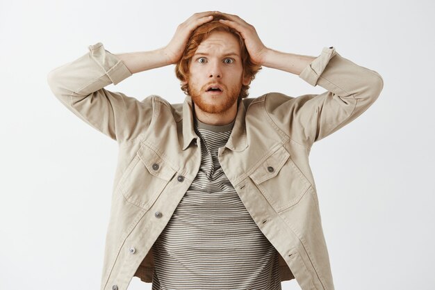
[{"label": "man's whole raised arm on the left, from sleeve to hand", "polygon": [[190,33],[211,21],[213,12],[195,13],[180,24],[170,43],[154,51],[112,54],[101,42],[90,45],[88,53],[56,67],[47,75],[54,95],[72,113],[119,143],[136,138],[149,126],[153,101],[140,102],[122,92],[104,87],[117,85],[131,74],[176,63]]}]

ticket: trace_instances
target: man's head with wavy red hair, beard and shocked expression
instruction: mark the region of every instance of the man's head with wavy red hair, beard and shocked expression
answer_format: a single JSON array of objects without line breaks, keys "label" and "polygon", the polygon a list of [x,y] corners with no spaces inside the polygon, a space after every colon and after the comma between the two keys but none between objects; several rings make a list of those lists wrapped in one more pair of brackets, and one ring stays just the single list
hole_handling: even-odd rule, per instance
[{"label": "man's head with wavy red hair, beard and shocked expression", "polygon": [[[238,98],[247,97],[249,84],[261,70],[250,60],[240,33],[219,19],[226,17],[215,14],[213,21],[192,32],[175,67],[181,90],[208,113],[222,113]],[[222,94],[207,94],[211,84],[222,86]]]}]

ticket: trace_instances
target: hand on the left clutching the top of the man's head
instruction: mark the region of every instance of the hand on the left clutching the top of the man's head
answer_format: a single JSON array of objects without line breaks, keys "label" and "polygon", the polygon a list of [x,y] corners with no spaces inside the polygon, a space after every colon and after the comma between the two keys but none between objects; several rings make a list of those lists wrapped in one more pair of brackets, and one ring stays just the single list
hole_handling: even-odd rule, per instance
[{"label": "hand on the left clutching the top of the man's head", "polygon": [[170,43],[166,47],[163,47],[168,63],[178,63],[181,56],[183,56],[183,51],[186,49],[192,31],[198,26],[213,20],[214,13],[215,11],[195,13],[177,27],[177,31],[175,31],[175,35]]}]

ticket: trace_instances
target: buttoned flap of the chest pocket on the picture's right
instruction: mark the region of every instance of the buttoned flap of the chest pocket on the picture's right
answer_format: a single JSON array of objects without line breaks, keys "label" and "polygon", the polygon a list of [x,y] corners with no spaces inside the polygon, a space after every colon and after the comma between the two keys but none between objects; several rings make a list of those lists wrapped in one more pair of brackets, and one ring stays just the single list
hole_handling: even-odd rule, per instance
[{"label": "buttoned flap of the chest pocket on the picture's right", "polygon": [[256,184],[261,184],[262,182],[277,176],[279,170],[284,166],[289,156],[290,153],[288,153],[286,148],[280,146],[278,150],[265,159],[265,161],[263,161],[258,168],[249,175],[249,177],[251,177]]}]

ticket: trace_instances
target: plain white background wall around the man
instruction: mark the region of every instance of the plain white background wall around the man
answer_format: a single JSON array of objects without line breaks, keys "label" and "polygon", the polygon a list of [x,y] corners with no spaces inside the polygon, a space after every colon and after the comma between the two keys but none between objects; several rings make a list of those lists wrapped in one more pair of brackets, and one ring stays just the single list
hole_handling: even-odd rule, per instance
[{"label": "plain white background wall around the man", "polygon": [[[381,74],[384,90],[354,122],[313,145],[336,289],[434,289],[434,4],[431,1],[0,2],[0,287],[99,289],[117,143],[67,111],[47,74],[102,42],[113,53],[167,45],[195,12],[254,25],[263,43],[323,47]],[[183,102],[174,66],[108,90]],[[264,67],[250,97],[320,93]],[[299,289],[295,282],[283,289]],[[134,277],[129,289],[151,289]]]}]

